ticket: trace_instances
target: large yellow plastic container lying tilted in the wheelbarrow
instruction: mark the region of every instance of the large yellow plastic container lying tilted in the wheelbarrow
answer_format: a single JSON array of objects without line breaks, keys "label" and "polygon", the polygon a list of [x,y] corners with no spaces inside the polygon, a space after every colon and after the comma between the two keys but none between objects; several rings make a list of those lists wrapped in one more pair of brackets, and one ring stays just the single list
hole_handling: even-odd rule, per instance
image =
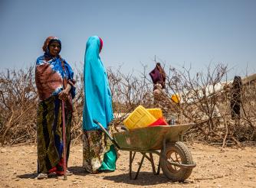
[{"label": "large yellow plastic container lying tilted in the wheelbarrow", "polygon": [[151,115],[142,105],[139,105],[124,121],[128,129],[143,128],[156,122],[156,118]]}]

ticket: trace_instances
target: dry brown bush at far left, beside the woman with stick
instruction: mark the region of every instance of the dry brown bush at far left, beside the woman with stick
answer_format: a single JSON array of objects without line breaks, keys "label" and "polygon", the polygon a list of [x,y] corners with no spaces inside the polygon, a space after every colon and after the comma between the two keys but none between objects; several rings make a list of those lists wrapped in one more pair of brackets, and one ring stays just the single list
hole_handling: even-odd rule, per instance
[{"label": "dry brown bush at far left, beside the woman with stick", "polygon": [[34,141],[37,93],[34,67],[0,73],[1,144]]}]

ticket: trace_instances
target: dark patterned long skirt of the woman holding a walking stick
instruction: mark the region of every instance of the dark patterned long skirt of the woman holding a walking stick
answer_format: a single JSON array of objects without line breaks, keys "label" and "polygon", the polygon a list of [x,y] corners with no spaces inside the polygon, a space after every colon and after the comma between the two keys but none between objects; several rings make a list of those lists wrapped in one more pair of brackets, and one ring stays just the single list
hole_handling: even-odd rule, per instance
[{"label": "dark patterned long skirt of the woman holding a walking stick", "polygon": [[[66,147],[68,160],[71,145],[71,110],[66,109]],[[38,105],[38,173],[50,173],[51,170],[63,171],[63,139],[61,100],[51,96]]]}]

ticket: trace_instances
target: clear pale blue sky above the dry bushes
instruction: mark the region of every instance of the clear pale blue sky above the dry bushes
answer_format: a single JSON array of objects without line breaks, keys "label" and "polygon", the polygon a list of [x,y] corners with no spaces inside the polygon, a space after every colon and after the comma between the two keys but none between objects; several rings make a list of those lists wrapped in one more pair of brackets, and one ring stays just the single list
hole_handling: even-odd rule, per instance
[{"label": "clear pale blue sky above the dry bushes", "polygon": [[88,37],[103,39],[106,67],[123,64],[123,73],[154,67],[224,63],[230,75],[256,73],[254,0],[0,0],[0,64],[27,67],[43,54],[50,35],[61,39],[61,57],[84,62]]}]

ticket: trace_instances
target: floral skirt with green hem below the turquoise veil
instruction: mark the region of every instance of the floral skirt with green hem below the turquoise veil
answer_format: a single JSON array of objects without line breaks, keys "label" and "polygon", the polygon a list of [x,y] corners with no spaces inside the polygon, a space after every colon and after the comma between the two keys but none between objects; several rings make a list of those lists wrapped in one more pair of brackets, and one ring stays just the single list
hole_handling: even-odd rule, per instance
[{"label": "floral skirt with green hem below the turquoise veil", "polygon": [[89,173],[116,170],[117,150],[101,130],[84,131],[83,167]]}]

